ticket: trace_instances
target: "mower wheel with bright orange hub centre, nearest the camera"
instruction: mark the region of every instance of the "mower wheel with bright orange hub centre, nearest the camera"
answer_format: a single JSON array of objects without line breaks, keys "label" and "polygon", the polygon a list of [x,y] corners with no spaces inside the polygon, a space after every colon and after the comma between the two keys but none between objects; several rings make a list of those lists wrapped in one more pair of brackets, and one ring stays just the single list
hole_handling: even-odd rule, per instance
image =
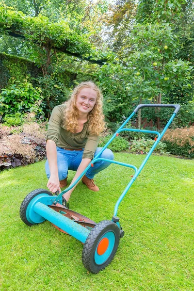
[{"label": "mower wheel with bright orange hub centre, nearest the camera", "polygon": [[120,240],[118,226],[110,220],[98,223],[89,233],[82,251],[84,267],[97,274],[110,264]]}]

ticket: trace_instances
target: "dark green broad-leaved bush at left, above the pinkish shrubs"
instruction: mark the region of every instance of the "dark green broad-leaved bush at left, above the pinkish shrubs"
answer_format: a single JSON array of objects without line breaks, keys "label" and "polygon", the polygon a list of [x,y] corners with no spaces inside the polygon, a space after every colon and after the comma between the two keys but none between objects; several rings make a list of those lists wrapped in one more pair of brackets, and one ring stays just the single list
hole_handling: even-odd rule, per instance
[{"label": "dark green broad-leaved bush at left, above the pinkish shrubs", "polygon": [[42,94],[40,88],[33,88],[32,84],[24,79],[23,82],[13,81],[7,89],[0,94],[0,114],[8,116],[15,113],[35,112],[43,115]]}]

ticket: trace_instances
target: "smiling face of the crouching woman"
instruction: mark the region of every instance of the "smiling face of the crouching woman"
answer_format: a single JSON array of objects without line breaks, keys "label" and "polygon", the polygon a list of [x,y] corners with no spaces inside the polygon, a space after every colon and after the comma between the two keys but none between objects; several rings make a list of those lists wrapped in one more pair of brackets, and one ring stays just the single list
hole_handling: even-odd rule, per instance
[{"label": "smiling face of the crouching woman", "polygon": [[88,114],[93,109],[96,101],[97,92],[95,90],[91,88],[82,88],[77,96],[76,106],[81,114]]}]

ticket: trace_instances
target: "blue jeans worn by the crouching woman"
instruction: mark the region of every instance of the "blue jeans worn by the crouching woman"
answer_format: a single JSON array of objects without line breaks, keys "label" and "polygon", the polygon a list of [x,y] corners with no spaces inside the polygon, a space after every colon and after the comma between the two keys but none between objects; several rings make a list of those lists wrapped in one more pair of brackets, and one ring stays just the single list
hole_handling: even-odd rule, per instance
[{"label": "blue jeans worn by the crouching woman", "polygon": [[[95,152],[95,156],[102,147],[97,147]],[[65,150],[62,147],[57,146],[57,166],[59,172],[59,180],[62,181],[67,177],[68,170],[77,171],[81,160],[82,160],[83,150]],[[94,157],[95,157],[94,156]],[[114,155],[113,152],[106,148],[99,158],[113,160]],[[85,176],[89,179],[93,179],[94,176],[99,173],[100,171],[106,169],[111,163],[99,161],[94,163],[94,167],[90,167],[89,170],[86,172]],[[50,178],[50,170],[49,170],[49,162],[46,161],[45,170],[47,174],[47,178]]]}]

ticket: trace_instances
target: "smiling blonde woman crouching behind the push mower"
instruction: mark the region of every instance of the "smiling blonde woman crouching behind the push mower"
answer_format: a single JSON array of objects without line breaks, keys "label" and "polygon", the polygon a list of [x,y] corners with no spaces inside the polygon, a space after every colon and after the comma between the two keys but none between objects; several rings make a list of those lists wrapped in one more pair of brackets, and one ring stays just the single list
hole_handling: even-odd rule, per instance
[{"label": "smiling blonde woman crouching behind the push mower", "polygon": [[[79,84],[65,104],[53,109],[47,132],[48,160],[45,165],[49,178],[47,187],[52,193],[60,193],[67,185],[68,169],[76,171],[71,184],[86,169],[101,149],[97,144],[103,129],[102,95],[92,81]],[[113,153],[105,149],[100,157],[113,160]],[[93,178],[109,165],[108,162],[96,162],[83,176],[82,182],[90,190],[99,191]],[[63,195],[65,205],[75,187]]]}]

